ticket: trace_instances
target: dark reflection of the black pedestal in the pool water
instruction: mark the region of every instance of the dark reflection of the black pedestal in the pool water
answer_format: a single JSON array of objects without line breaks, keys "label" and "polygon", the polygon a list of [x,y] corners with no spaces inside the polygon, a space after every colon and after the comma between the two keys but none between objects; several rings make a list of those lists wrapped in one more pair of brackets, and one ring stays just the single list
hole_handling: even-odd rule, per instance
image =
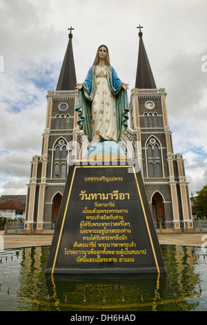
[{"label": "dark reflection of the black pedestal in the pool water", "polygon": [[47,284],[51,299],[59,300],[59,297],[67,299],[71,310],[74,307],[83,308],[83,306],[85,310],[101,310],[101,308],[134,310],[137,304],[141,304],[141,297],[153,306],[157,299],[159,276],[68,277],[68,275],[56,275],[52,278],[48,276]]}]

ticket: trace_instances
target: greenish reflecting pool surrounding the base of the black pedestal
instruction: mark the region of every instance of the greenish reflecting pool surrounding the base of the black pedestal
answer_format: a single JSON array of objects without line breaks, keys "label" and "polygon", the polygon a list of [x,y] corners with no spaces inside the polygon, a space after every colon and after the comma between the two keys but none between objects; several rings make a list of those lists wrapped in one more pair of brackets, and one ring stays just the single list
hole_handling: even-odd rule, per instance
[{"label": "greenish reflecting pool surrounding the base of the black pedestal", "polygon": [[161,245],[166,275],[45,275],[50,247],[0,251],[0,310],[207,310],[207,254]]}]

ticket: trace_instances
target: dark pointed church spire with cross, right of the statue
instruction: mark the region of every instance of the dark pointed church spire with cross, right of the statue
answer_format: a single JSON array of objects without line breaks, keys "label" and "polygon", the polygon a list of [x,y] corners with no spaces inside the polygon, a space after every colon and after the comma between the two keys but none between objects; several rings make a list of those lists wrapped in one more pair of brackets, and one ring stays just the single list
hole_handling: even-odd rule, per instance
[{"label": "dark pointed church spire with cross, right of the statue", "polygon": [[146,49],[144,47],[144,42],[142,39],[143,33],[141,32],[141,27],[139,25],[139,55],[137,62],[137,75],[135,88],[138,89],[156,89],[156,84],[154,77],[152,75],[152,70],[150,68],[150,62],[148,61],[148,56],[146,54]]}]

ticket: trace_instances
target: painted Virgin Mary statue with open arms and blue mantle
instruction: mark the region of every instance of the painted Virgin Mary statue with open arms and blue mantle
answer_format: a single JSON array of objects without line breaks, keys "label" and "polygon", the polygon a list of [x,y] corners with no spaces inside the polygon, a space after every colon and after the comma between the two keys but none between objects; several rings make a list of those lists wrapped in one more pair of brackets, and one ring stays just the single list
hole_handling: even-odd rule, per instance
[{"label": "painted Virgin Mary statue with open arms and blue mantle", "polygon": [[79,115],[77,123],[89,142],[119,142],[128,125],[128,84],[121,82],[110,66],[107,46],[99,46],[86,80],[77,84],[76,89],[79,89],[75,108]]}]

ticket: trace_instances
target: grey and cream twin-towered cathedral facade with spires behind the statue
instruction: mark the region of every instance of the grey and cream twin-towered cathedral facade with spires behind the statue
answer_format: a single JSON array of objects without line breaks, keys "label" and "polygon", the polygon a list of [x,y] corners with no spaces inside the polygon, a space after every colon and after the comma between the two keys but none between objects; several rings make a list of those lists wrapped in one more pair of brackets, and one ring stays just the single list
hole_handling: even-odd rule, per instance
[{"label": "grey and cream twin-towered cathedral facade with spires behind the statue", "polygon": [[[51,229],[57,221],[68,174],[68,157],[77,160],[88,139],[77,125],[75,62],[70,30],[56,91],[48,91],[41,156],[33,156],[26,204],[25,230]],[[188,183],[181,154],[174,154],[165,89],[157,89],[143,34],[135,89],[131,91],[128,129],[122,133],[126,156],[139,162],[155,226],[193,229]]]}]

